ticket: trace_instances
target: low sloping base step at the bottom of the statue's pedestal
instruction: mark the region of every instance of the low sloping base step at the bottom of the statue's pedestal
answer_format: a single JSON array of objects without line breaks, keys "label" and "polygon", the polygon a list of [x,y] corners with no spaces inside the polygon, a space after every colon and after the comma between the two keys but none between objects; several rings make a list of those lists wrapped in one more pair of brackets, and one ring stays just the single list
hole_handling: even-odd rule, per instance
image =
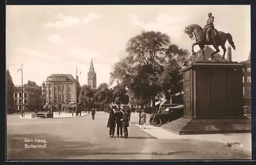
[{"label": "low sloping base step at the bottom of the statue's pedestal", "polygon": [[161,127],[177,134],[249,133],[251,132],[251,120],[246,118],[179,118]]}]

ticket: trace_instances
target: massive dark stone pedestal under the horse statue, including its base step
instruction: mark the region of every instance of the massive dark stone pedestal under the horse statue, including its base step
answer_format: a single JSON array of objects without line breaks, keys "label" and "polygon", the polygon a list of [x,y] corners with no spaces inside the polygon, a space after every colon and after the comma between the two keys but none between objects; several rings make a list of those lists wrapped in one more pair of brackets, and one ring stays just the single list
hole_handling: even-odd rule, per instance
[{"label": "massive dark stone pedestal under the horse statue, including its base step", "polygon": [[169,123],[179,134],[250,132],[243,111],[243,67],[198,62],[184,73],[184,116]]}]

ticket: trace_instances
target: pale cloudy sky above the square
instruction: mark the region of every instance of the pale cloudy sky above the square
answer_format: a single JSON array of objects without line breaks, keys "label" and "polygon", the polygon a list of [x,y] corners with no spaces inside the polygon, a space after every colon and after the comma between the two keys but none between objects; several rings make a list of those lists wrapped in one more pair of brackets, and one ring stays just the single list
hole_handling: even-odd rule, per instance
[{"label": "pale cloudy sky above the square", "polygon": [[6,66],[14,85],[22,84],[17,72],[22,63],[24,84],[31,80],[41,85],[50,74],[75,77],[76,66],[80,84],[87,84],[91,59],[97,86],[109,83],[114,64],[127,56],[131,37],[159,31],[173,44],[191,50],[195,41],[184,34],[184,27],[203,27],[209,12],[215,28],[233,37],[237,50],[232,49],[232,61],[247,60],[251,45],[250,6],[245,5],[7,6],[6,12]]}]

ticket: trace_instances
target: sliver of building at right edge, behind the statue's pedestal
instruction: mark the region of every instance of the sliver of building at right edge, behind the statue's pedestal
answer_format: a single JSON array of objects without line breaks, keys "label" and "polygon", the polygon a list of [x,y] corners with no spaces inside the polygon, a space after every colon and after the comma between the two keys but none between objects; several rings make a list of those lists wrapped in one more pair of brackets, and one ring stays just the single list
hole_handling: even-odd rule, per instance
[{"label": "sliver of building at right edge, behind the statue's pedestal", "polygon": [[243,95],[244,105],[251,106],[251,60],[250,56],[248,60],[240,62],[245,65],[243,69]]}]

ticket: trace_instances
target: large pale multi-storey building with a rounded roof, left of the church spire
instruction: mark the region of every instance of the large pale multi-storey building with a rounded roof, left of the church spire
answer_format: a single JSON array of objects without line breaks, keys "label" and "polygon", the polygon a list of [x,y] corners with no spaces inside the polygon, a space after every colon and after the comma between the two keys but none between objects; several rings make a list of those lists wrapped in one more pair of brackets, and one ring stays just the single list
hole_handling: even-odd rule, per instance
[{"label": "large pale multi-storey building with a rounded roof, left of the church spire", "polygon": [[47,77],[44,95],[46,103],[53,104],[55,111],[64,111],[67,104],[76,101],[76,80],[71,74],[51,74]]}]

